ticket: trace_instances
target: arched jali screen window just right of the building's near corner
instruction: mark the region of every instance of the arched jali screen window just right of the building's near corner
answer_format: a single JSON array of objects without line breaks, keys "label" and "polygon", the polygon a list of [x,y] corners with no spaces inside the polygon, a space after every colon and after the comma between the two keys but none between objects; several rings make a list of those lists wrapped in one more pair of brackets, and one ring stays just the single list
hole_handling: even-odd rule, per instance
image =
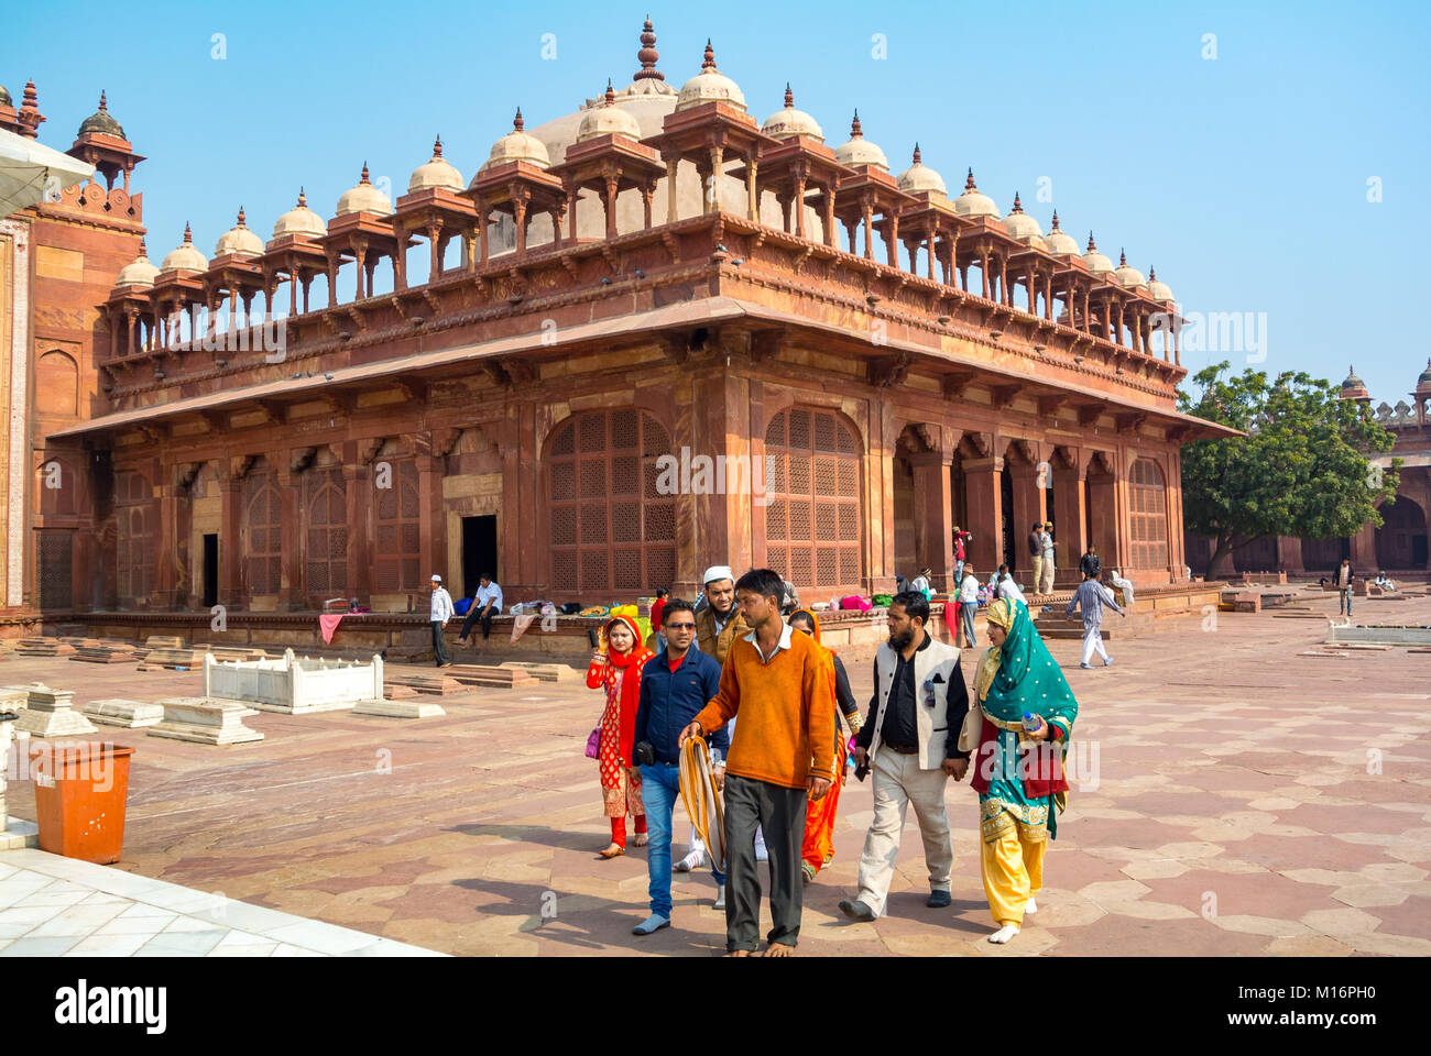
[{"label": "arched jali screen window just right of the building's near corner", "polygon": [[796,587],[860,588],[860,444],[833,411],[791,408],[766,429],[766,561]]}]

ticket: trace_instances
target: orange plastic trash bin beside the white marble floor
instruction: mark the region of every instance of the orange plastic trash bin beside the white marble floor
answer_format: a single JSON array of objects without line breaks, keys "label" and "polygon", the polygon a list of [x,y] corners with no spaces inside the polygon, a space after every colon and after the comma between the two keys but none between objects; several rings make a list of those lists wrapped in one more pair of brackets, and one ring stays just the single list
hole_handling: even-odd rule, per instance
[{"label": "orange plastic trash bin beside the white marble floor", "polygon": [[62,741],[30,748],[40,850],[109,864],[124,847],[133,748]]}]

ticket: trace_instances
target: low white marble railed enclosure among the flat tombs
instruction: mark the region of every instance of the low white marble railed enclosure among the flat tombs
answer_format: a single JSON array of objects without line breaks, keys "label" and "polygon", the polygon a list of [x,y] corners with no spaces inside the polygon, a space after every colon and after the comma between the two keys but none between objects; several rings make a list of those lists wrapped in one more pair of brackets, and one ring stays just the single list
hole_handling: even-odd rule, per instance
[{"label": "low white marble railed enclosure among the flat tombs", "polygon": [[210,654],[203,661],[203,693],[289,715],[339,711],[382,700],[382,657],[373,655],[371,664],[299,660],[293,650],[285,650],[279,660],[219,663]]}]

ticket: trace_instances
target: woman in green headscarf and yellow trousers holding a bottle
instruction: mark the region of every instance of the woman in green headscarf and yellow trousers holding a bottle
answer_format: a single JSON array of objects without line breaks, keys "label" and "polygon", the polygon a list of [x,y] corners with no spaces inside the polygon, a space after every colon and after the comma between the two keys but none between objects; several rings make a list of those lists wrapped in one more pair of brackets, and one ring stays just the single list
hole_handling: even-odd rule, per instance
[{"label": "woman in green headscarf and yellow trousers holding a bottle", "polygon": [[[972,784],[979,793],[980,873],[999,926],[989,942],[1006,943],[1019,934],[1023,914],[1037,911],[1043,850],[1068,798],[1063,756],[1078,701],[1023,602],[1000,598],[987,620],[992,645],[975,675],[983,730]],[[1026,724],[1025,713],[1037,718]]]}]

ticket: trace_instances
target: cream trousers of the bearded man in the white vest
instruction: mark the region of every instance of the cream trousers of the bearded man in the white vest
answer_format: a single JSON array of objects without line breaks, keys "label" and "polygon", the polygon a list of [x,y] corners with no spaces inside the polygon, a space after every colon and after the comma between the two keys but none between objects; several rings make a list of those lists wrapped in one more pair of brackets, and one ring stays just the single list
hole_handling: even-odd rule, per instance
[{"label": "cream trousers of the bearded man in the white vest", "polygon": [[919,834],[924,840],[924,864],[929,866],[930,890],[949,890],[949,873],[954,866],[954,847],[949,839],[949,811],[944,807],[944,786],[949,776],[943,770],[920,770],[919,756],[900,756],[883,748],[874,757],[874,821],[864,837],[860,854],[860,901],[884,913],[894,859],[899,857],[904,814],[914,804]]}]

